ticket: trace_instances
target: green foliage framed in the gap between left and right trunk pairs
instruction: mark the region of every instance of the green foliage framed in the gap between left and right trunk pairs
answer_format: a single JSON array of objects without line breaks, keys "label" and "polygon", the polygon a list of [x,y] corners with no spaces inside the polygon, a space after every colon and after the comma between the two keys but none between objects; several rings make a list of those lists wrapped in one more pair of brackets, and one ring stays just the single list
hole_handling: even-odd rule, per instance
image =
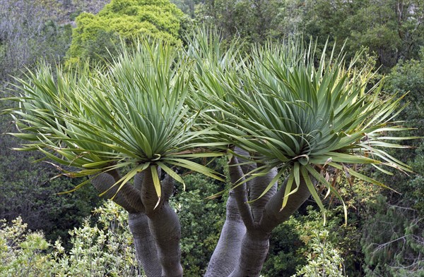
[{"label": "green foliage framed in the gap between left and right trunk pairs", "polygon": [[209,258],[219,239],[224,224],[225,202],[223,199],[205,198],[222,190],[222,183],[200,174],[184,177],[187,189],[177,190],[172,199],[181,222],[181,252],[184,276],[203,276]]}]

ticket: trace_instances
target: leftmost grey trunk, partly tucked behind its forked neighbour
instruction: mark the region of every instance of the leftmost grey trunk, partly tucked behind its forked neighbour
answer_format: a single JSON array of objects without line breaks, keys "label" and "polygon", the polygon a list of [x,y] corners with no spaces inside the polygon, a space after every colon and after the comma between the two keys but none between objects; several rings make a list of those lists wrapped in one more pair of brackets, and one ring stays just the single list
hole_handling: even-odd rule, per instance
[{"label": "leftmost grey trunk, partly tucked behind its forked neighbour", "polygon": [[155,240],[151,235],[146,214],[129,214],[128,222],[129,229],[134,237],[137,260],[144,273],[148,277],[161,276],[162,267],[159,263]]}]

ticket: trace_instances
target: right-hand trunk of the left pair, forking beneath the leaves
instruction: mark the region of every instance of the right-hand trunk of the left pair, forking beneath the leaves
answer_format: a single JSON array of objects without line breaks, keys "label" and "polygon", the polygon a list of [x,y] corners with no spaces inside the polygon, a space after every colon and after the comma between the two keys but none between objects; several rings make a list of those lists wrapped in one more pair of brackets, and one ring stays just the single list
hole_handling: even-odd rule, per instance
[{"label": "right-hand trunk of the left pair, forking beneath the leaves", "polygon": [[[141,201],[148,216],[148,226],[156,243],[158,259],[162,266],[162,276],[182,276],[180,264],[181,250],[179,239],[181,227],[175,211],[171,209],[167,199],[169,188],[165,188],[164,195],[158,204],[158,195],[153,185],[151,171],[143,171],[141,182]],[[156,207],[156,204],[158,206]]]}]

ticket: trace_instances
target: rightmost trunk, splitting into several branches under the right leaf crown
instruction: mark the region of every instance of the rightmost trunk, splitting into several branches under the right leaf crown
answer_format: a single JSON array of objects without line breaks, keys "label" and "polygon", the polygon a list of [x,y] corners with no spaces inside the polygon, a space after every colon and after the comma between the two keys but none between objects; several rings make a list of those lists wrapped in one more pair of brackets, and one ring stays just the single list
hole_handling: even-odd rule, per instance
[{"label": "rightmost trunk, splitting into several branches under the right leaf crown", "polygon": [[[240,166],[235,166],[237,163],[237,158],[233,157],[230,162],[230,177],[233,185],[244,178]],[[276,173],[277,171],[273,169],[266,176],[255,178],[250,187],[250,197],[257,199]],[[247,231],[242,240],[239,260],[230,277],[259,276],[268,254],[271,231],[287,220],[310,197],[305,182],[301,180],[298,191],[288,197],[288,204],[281,210],[286,183],[287,181],[281,185],[278,192],[276,192],[277,184],[274,184],[266,195],[250,205],[247,204],[245,187],[243,185],[235,187],[237,207]]]}]

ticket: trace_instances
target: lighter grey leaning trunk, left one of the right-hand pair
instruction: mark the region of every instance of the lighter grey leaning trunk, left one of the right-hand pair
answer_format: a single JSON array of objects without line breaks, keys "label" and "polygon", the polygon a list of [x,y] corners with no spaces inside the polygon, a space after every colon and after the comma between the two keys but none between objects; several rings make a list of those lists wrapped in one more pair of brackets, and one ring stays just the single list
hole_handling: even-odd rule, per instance
[{"label": "lighter grey leaning trunk, left one of the right-hand pair", "polygon": [[209,261],[205,277],[228,277],[237,265],[246,227],[240,217],[234,193],[230,191],[225,223]]}]

